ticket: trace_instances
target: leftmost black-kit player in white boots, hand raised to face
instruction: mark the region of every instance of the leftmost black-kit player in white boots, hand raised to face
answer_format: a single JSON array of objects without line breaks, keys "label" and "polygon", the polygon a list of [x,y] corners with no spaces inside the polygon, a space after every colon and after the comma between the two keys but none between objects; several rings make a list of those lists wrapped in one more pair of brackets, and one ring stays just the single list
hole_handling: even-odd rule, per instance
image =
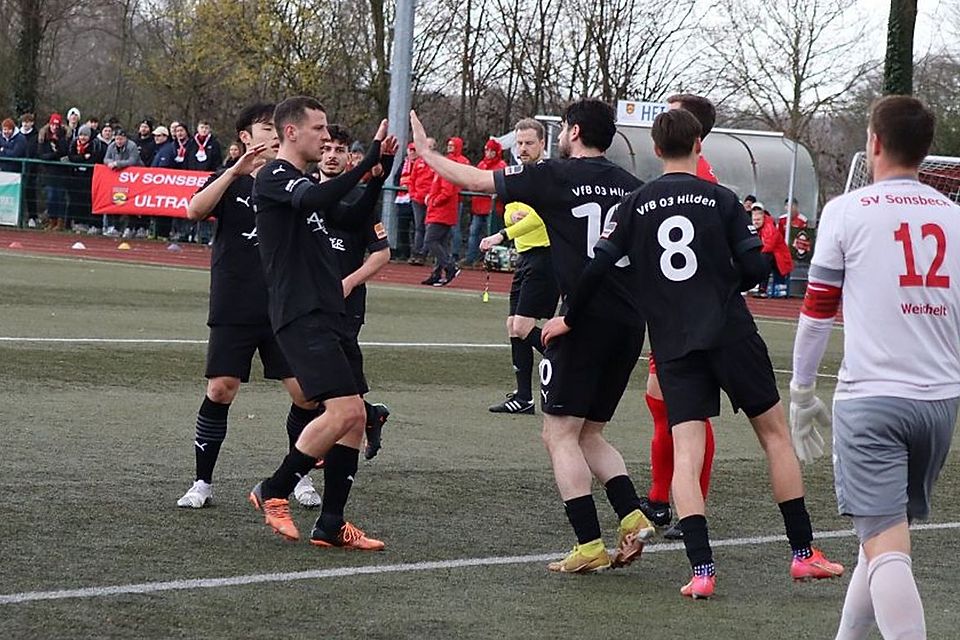
[{"label": "leftmost black-kit player in white boots, hand raised to face", "polygon": [[[191,220],[217,218],[210,260],[210,312],[207,324],[207,390],[197,412],[194,437],[195,482],[177,500],[178,507],[199,509],[213,498],[213,469],[227,435],[230,403],[240,383],[250,379],[254,352],[259,352],[264,377],[280,380],[290,393],[287,414],[290,446],[303,427],[317,415],[317,405],[303,397],[297,379],[277,345],[267,315],[267,285],[263,279],[257,226],[250,200],[253,180],[260,168],[276,157],[280,142],[273,127],[274,105],[257,103],[237,117],[238,139],[246,151],[229,168],[214,174],[191,199]],[[294,488],[305,507],[320,505],[310,476]]]}]

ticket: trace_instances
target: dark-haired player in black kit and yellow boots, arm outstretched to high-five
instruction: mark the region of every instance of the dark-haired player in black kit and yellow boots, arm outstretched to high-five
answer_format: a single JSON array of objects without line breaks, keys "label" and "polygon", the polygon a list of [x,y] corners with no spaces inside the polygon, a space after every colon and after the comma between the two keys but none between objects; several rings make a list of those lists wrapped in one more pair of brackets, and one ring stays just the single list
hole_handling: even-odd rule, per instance
[{"label": "dark-haired player in black kit and yellow boots, arm outstretched to high-five", "polygon": [[[640,180],[604,157],[616,134],[610,105],[584,99],[567,107],[560,132],[560,160],[482,171],[430,151],[423,125],[410,116],[417,152],[443,178],[472,191],[496,192],[504,202],[523,202],[543,218],[560,290],[569,293],[593,256],[604,221]],[[622,264],[597,291],[577,335],[548,346],[540,363],[543,440],[570,524],[573,550],[551,571],[584,573],[624,566],[639,557],[653,525],[620,452],[603,437],[643,347],[644,323],[632,266]],[[617,551],[603,544],[593,477],[606,488],[620,518]]]}]

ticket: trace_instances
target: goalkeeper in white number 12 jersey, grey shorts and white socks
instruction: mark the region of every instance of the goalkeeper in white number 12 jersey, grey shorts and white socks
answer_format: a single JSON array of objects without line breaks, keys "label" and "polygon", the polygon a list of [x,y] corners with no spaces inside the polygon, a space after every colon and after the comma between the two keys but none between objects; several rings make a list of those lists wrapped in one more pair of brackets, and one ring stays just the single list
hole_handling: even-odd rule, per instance
[{"label": "goalkeeper in white number 12 jersey, grey shorts and white socks", "polygon": [[793,350],[790,423],[805,462],[830,415],[816,371],[843,301],[833,403],[834,481],[860,557],[838,640],[926,638],[908,524],[930,493],[960,405],[960,207],[919,181],[934,116],[919,100],[876,102],[867,128],[873,184],[827,204]]}]

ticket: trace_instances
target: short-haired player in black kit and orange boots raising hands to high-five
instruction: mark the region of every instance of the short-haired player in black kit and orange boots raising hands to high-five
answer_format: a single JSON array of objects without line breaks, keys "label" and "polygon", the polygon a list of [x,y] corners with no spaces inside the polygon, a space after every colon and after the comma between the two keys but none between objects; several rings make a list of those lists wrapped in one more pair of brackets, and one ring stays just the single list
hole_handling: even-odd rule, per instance
[{"label": "short-haired player in black kit and orange boots raising hands to high-five", "polygon": [[257,174],[253,193],[270,322],[304,396],[320,402],[324,412],[306,426],[273,475],[254,486],[250,502],[276,533],[299,540],[287,496],[323,458],[323,506],[310,542],[379,550],[383,542],[368,538],[343,515],[360,452],[338,443],[359,442],[366,415],[342,346],[344,290],[327,225],[364,224],[363,216],[351,216],[340,202],[381,162],[381,153],[392,159],[396,138],[387,137],[384,120],[357,166],[317,184],[305,172],[320,160],[330,138],[323,105],[307,96],[288,98],[277,105],[274,124],[280,150]]}]

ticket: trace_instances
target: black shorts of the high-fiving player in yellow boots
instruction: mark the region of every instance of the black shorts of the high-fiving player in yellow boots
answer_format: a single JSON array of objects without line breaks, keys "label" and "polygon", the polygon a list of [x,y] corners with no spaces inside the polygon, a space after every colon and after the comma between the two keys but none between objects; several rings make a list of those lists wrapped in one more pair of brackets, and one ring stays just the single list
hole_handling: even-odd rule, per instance
[{"label": "black shorts of the high-fiving player in yellow boots", "polygon": [[609,422],[643,349],[643,327],[585,316],[540,361],[544,413]]}]

